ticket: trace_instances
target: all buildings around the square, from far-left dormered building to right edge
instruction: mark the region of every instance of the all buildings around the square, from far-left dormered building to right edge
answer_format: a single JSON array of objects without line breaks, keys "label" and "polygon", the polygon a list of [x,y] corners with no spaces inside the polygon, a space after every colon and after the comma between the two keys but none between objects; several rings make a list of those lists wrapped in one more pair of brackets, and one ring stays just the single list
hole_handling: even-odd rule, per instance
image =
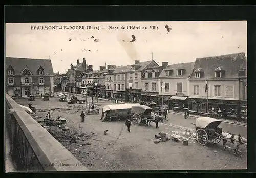
[{"label": "all buildings around the square, from far-left dormered building to right edge", "polygon": [[102,98],[152,100],[170,109],[185,105],[197,114],[221,108],[236,115],[247,110],[246,64],[245,54],[236,53],[197,58],[189,63],[162,62],[161,66],[154,60],[135,60],[132,65],[106,65],[93,70],[83,58],[60,75],[53,73],[51,60],[7,57],[6,89],[11,96],[29,97],[53,94],[54,89],[80,94],[94,85]]}]

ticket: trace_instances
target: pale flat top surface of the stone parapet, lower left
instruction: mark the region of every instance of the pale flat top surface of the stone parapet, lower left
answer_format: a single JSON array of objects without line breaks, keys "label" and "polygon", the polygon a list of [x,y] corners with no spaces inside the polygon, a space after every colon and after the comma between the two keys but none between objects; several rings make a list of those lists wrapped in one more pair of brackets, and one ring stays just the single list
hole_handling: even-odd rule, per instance
[{"label": "pale flat top surface of the stone parapet, lower left", "polygon": [[8,94],[6,103],[45,171],[89,171]]}]

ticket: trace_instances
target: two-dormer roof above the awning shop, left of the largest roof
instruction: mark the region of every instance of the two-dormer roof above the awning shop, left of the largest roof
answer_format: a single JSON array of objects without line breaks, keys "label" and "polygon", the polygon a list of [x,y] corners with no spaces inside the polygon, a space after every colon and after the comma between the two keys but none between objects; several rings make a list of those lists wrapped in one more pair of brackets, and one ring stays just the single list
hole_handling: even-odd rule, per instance
[{"label": "two-dormer roof above the awning shop, left of the largest roof", "polygon": [[[172,74],[168,77],[179,77],[179,78],[188,78],[193,70],[195,62],[187,62],[187,63],[178,63],[178,64],[172,64],[168,65],[165,69],[162,70],[159,77],[165,77],[164,73],[166,70],[172,70]],[[177,76],[177,70],[178,69],[184,69],[185,71],[182,72],[182,76]]]}]

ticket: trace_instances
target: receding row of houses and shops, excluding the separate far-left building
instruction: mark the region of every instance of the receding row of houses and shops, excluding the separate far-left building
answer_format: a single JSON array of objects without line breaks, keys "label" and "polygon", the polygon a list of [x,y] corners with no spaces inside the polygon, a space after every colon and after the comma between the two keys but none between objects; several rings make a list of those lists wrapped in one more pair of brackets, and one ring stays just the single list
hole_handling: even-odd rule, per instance
[{"label": "receding row of houses and shops, excluding the separate far-left building", "polygon": [[[205,83],[208,90],[205,90]],[[62,80],[62,90],[81,93],[82,88],[97,85],[103,98],[121,101],[152,100],[170,109],[185,105],[191,112],[207,113],[221,108],[229,114],[247,110],[247,59],[244,53],[197,58],[195,62],[159,66],[154,60],[127,66],[106,65],[93,70],[83,62],[73,66]]]}]

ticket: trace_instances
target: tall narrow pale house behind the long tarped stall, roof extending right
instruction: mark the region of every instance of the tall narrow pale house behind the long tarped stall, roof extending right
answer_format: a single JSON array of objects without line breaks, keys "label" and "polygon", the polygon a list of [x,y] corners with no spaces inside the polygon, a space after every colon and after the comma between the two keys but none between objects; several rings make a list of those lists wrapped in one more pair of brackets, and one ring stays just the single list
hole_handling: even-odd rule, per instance
[{"label": "tall narrow pale house behind the long tarped stall, roof extending right", "polygon": [[135,60],[132,68],[126,72],[126,101],[133,102],[138,99],[141,100],[142,82],[141,76],[147,68],[159,67],[154,61],[140,62]]}]

